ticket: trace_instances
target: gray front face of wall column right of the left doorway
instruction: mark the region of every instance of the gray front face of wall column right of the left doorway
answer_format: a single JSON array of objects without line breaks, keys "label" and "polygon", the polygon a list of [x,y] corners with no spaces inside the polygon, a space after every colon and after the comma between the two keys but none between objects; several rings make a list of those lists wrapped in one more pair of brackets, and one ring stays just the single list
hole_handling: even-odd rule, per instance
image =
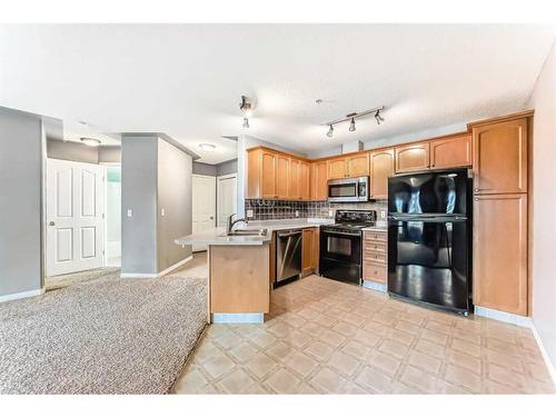
[{"label": "gray front face of wall column right of the left doorway", "polygon": [[121,143],[121,274],[157,274],[158,137]]}]

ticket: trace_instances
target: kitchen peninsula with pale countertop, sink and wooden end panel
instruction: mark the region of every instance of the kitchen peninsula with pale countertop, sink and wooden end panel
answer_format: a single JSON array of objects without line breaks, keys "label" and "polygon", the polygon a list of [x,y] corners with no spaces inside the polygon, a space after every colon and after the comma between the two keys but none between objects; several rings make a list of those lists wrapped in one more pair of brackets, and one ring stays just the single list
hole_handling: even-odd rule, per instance
[{"label": "kitchen peninsula with pale countertop, sink and wooden end panel", "polygon": [[209,322],[262,322],[270,309],[274,231],[315,228],[322,222],[258,221],[240,230],[267,229],[264,236],[227,236],[222,227],[176,239],[177,245],[208,246]]}]

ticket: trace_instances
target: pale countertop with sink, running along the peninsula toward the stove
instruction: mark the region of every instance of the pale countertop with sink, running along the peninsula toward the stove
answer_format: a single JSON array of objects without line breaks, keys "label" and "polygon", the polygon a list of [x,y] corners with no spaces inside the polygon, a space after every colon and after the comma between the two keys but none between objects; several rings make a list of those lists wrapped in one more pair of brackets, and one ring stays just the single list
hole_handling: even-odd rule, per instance
[{"label": "pale countertop with sink, running along the peninsula toward the stove", "polygon": [[272,231],[305,229],[308,227],[318,227],[320,225],[334,224],[332,219],[285,219],[285,220],[267,220],[267,221],[249,221],[248,225],[239,224],[234,227],[236,229],[252,230],[268,229],[266,236],[226,236],[225,227],[217,227],[203,230],[197,234],[180,237],[175,240],[177,245],[216,245],[216,246],[256,246],[270,242]]}]

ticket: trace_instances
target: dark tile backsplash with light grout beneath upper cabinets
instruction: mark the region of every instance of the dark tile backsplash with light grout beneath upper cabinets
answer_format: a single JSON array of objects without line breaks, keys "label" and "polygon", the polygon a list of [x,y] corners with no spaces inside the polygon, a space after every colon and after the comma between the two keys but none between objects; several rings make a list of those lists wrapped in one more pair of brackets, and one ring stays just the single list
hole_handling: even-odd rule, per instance
[{"label": "dark tile backsplash with light grout beneath upper cabinets", "polygon": [[[329,202],[329,201],[282,201],[282,200],[245,200],[245,210],[252,210],[252,220],[278,220],[298,218],[334,218],[336,210],[376,210],[380,219],[380,210],[388,209],[387,200],[369,202]],[[331,211],[331,216],[330,216]]]}]

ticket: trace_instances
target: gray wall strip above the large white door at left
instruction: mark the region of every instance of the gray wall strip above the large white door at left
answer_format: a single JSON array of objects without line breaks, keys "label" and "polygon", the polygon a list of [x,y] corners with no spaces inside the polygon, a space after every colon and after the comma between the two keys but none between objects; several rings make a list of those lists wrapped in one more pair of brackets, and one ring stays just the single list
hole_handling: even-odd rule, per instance
[{"label": "gray wall strip above the large white door at left", "polygon": [[79,142],[47,140],[47,156],[49,158],[88,163],[119,163],[120,153],[121,148],[119,146],[89,147]]}]

